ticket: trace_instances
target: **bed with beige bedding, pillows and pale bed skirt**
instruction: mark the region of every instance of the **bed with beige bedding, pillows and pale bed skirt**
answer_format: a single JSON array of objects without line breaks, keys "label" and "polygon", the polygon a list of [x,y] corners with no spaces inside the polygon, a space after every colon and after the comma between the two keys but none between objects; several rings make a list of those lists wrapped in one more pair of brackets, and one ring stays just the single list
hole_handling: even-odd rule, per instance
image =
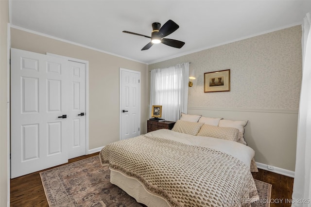
[{"label": "bed with beige bedding, pillows and pale bed skirt", "polygon": [[172,130],[108,144],[101,163],[111,183],[148,207],[250,206],[259,199],[255,152],[238,127],[209,124],[178,120]]}]

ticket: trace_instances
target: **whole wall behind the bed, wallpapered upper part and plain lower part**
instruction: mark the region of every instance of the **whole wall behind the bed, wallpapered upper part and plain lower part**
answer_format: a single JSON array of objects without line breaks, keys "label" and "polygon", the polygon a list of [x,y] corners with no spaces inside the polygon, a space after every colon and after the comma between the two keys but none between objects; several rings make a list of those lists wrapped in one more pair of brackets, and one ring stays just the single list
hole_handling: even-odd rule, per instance
[{"label": "whole wall behind the bed, wallpapered upper part and plain lower part", "polygon": [[[248,120],[245,139],[256,161],[294,171],[301,66],[301,26],[206,49],[149,70],[191,62],[196,80],[188,112]],[[230,92],[204,93],[204,73],[230,69]]]}]

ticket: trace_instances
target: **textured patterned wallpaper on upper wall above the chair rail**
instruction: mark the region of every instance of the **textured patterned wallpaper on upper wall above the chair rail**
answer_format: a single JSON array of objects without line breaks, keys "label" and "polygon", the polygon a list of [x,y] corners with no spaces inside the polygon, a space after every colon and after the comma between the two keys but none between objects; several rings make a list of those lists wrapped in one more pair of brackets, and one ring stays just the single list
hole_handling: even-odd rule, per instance
[{"label": "textured patterned wallpaper on upper wall above the chair rail", "polygon": [[[181,62],[191,62],[197,78],[189,108],[298,110],[300,25],[150,64],[149,70]],[[225,69],[230,69],[230,92],[204,93],[204,73]]]}]

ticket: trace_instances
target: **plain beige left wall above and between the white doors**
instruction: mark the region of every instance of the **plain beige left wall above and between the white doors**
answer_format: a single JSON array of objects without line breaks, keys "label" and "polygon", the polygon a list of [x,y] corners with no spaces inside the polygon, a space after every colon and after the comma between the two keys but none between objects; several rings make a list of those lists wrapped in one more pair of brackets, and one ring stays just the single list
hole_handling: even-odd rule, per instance
[{"label": "plain beige left wall above and between the white doors", "polygon": [[119,68],[141,72],[141,133],[147,131],[148,65],[96,50],[11,29],[12,48],[46,52],[89,62],[89,149],[120,139]]}]

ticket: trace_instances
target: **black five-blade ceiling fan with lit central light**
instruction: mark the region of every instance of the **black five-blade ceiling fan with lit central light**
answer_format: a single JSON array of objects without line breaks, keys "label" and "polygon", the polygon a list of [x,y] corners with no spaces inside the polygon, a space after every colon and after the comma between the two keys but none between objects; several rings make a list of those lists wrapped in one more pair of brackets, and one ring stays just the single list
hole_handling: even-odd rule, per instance
[{"label": "black five-blade ceiling fan with lit central light", "polygon": [[184,42],[179,41],[179,40],[163,38],[175,32],[178,28],[179,28],[178,24],[176,24],[173,20],[170,19],[162,27],[160,23],[154,22],[152,24],[151,37],[143,35],[143,34],[134,33],[134,32],[128,32],[128,31],[122,31],[122,32],[150,38],[151,42],[145,45],[145,47],[143,47],[141,50],[149,49],[151,48],[151,46],[153,46],[154,44],[158,44],[158,43],[163,43],[173,48],[181,48],[185,45]]}]

